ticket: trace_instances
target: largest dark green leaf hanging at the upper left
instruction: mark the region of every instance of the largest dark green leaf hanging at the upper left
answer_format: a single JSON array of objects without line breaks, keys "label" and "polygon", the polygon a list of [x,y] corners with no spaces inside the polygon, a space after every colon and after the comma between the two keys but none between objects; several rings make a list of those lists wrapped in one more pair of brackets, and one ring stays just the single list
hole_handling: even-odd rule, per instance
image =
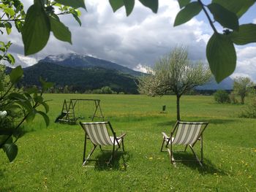
[{"label": "largest dark green leaf hanging at the upper left", "polygon": [[50,22],[43,7],[33,4],[26,14],[21,32],[25,55],[31,55],[42,50],[50,37]]}]

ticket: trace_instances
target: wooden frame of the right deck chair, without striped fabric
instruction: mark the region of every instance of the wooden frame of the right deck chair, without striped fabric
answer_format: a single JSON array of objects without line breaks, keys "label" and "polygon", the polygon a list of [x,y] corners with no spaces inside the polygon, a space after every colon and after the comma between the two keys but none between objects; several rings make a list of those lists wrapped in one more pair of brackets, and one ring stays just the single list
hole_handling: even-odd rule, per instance
[{"label": "wooden frame of the right deck chair, without striped fabric", "polygon": [[[200,134],[198,134],[197,139],[195,140],[195,142],[187,144],[185,149],[184,149],[184,152],[185,152],[187,150],[187,147],[189,146],[190,149],[192,150],[192,153],[195,155],[196,160],[175,160],[174,157],[173,157],[173,152],[180,152],[180,151],[173,151],[173,140],[175,138],[173,136],[176,135],[176,132],[178,131],[178,125],[181,124],[181,123],[182,124],[194,124],[194,125],[195,124],[201,124],[203,126],[202,128],[200,128]],[[167,135],[164,132],[162,132],[163,141],[162,141],[161,152],[164,152],[164,150],[162,150],[162,149],[163,149],[164,144],[165,144],[165,147],[167,148],[167,151],[170,155],[170,163],[171,164],[176,165],[176,162],[181,162],[181,161],[197,161],[200,164],[200,166],[203,166],[203,131],[206,129],[207,126],[208,126],[207,122],[181,122],[181,121],[177,121],[176,125],[173,128],[173,131],[171,131],[171,133],[170,133],[170,137],[167,137]],[[197,155],[195,153],[195,150],[193,148],[198,140],[200,140],[200,158],[197,157]]]}]

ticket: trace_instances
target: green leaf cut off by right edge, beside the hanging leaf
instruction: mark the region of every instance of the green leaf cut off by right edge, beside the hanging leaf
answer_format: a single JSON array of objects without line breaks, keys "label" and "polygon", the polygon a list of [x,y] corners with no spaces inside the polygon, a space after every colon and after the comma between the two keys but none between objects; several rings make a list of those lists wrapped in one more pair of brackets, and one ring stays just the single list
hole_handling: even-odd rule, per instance
[{"label": "green leaf cut off by right edge, beside the hanging leaf", "polygon": [[256,42],[256,24],[241,25],[239,31],[233,31],[230,34],[230,38],[236,45],[246,45],[250,42]]}]

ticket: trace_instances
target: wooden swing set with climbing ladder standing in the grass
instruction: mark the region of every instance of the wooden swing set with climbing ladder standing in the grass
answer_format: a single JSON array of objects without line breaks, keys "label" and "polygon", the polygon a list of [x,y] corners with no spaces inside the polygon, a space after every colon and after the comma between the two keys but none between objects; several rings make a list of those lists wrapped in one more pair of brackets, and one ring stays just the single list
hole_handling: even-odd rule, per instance
[{"label": "wooden swing set with climbing ladder standing in the grass", "polygon": [[[92,103],[93,107],[87,107],[86,104],[89,103]],[[80,104],[83,104],[82,111],[80,110]],[[92,109],[93,114],[89,116],[91,121],[94,121],[94,118],[100,118],[104,121],[99,99],[70,99],[69,101],[64,99],[61,114],[56,118],[55,123],[76,124],[78,119],[86,117],[85,113],[89,111],[89,108],[94,108]]]}]

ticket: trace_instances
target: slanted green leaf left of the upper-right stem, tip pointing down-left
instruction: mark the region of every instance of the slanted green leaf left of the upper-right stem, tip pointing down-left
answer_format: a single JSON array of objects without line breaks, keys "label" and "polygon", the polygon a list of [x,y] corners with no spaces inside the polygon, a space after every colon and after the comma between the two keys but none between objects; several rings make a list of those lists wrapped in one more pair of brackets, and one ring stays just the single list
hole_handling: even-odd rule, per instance
[{"label": "slanted green leaf left of the upper-right stem, tip pointing down-left", "polygon": [[202,7],[197,1],[187,4],[187,6],[184,7],[184,9],[181,9],[181,11],[176,15],[174,26],[186,23],[195,17],[195,15],[197,15],[201,10]]}]

